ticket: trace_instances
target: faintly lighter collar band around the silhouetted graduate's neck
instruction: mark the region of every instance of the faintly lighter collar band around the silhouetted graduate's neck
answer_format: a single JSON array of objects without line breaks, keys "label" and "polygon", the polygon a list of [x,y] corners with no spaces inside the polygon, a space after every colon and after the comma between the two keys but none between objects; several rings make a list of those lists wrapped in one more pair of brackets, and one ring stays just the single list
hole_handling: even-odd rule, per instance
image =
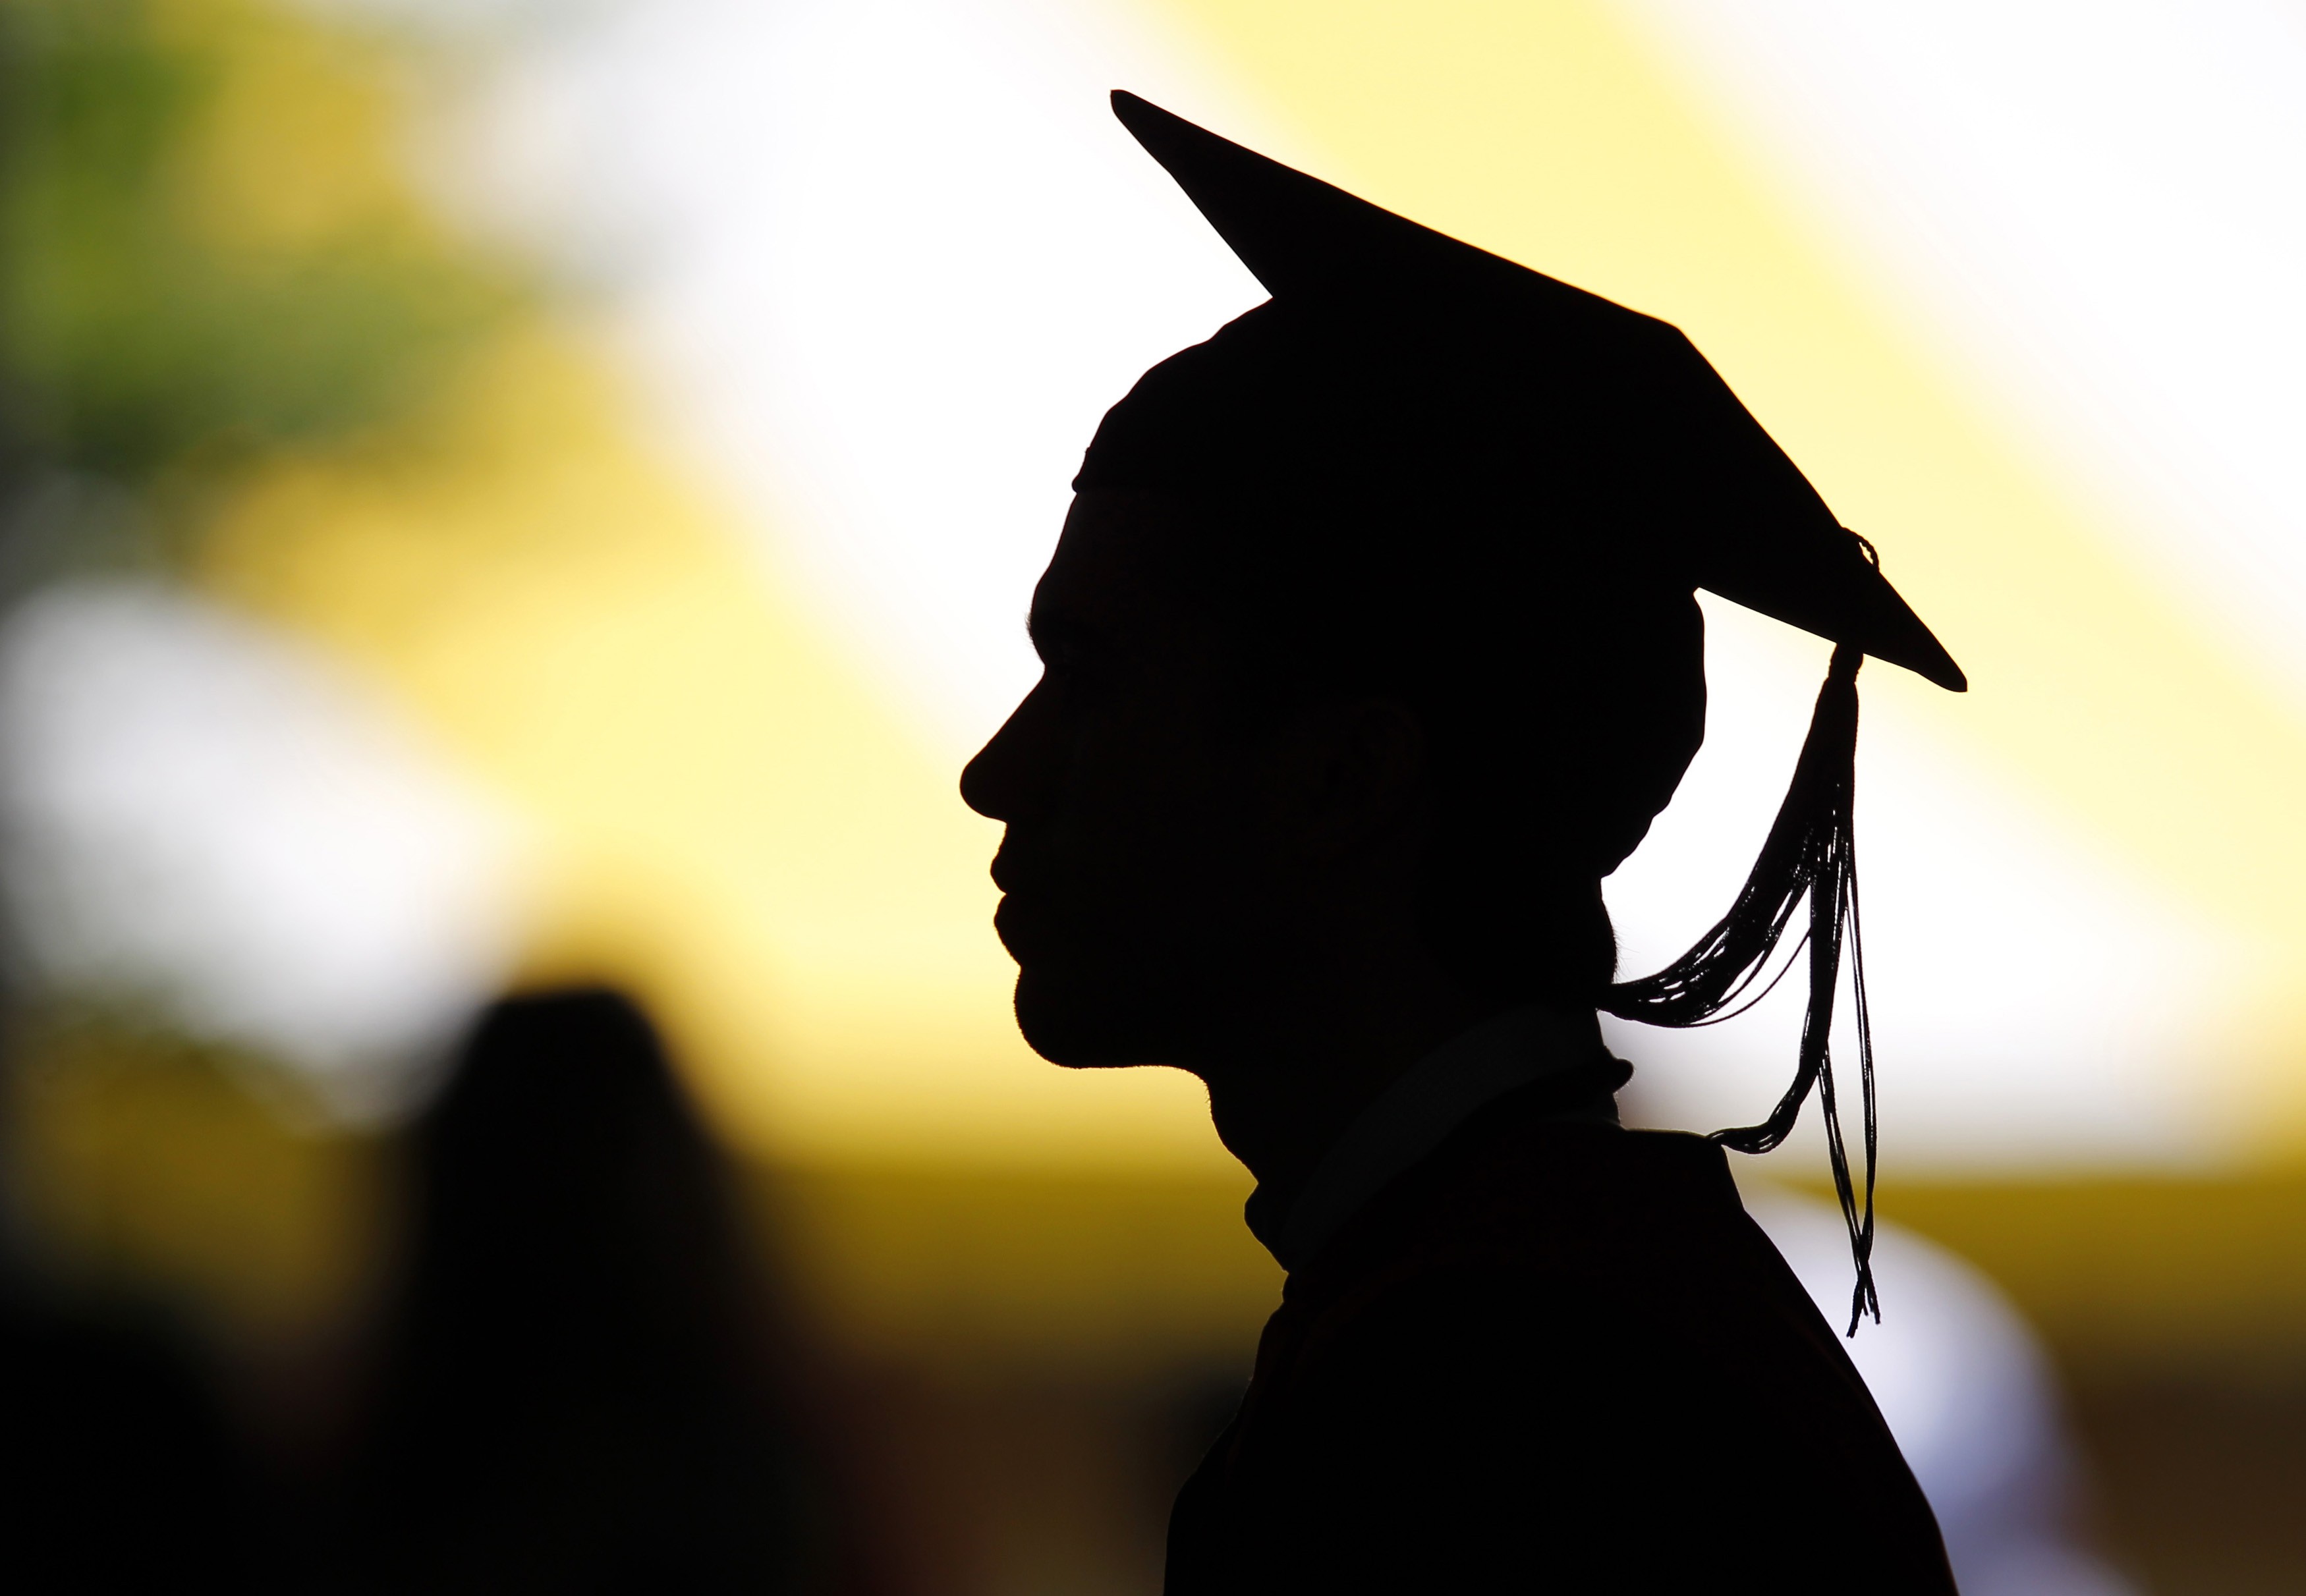
[{"label": "faintly lighter collar band around the silhouetted graduate's neck", "polygon": [[[1420,1162],[1476,1109],[1517,1086],[1600,1056],[1600,1022],[1550,1008],[1508,1008],[1418,1059],[1377,1093],[1321,1155],[1287,1211],[1250,1195],[1250,1232],[1282,1268],[1301,1268],[1361,1206]],[[1607,1109],[1610,1123],[1617,1112]]]}]

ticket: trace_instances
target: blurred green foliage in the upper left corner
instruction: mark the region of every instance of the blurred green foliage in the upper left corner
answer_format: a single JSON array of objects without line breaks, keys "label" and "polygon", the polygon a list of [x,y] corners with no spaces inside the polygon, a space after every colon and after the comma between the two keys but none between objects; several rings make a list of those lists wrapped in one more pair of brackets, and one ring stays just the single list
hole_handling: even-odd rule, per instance
[{"label": "blurred green foliage in the upper left corner", "polygon": [[277,187],[362,187],[314,171],[297,145],[330,129],[295,113],[385,97],[392,62],[327,44],[247,0],[0,5],[0,503],[60,473],[173,500],[155,489],[387,427],[521,298],[406,196],[323,196],[321,226],[270,238],[217,214],[203,166],[219,125],[251,118],[231,104],[251,55],[274,85],[281,60],[307,78],[242,131],[281,157]]}]

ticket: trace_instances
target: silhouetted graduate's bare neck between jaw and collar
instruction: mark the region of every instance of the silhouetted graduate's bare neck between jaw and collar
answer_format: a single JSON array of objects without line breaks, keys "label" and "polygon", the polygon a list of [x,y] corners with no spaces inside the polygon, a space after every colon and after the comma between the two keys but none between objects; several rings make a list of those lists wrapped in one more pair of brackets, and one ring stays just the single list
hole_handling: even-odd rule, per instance
[{"label": "silhouetted graduate's bare neck between jaw and collar", "polygon": [[1282,1209],[1386,1086],[1501,1008],[1434,971],[1273,999],[1195,1072],[1208,1084],[1218,1139]]}]

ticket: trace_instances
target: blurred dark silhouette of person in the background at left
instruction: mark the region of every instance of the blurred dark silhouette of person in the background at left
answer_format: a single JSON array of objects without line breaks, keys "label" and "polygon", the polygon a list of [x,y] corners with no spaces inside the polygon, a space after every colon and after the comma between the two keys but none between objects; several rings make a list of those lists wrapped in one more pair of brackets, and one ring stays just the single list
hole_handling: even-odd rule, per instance
[{"label": "blurred dark silhouette of person in the background at left", "polygon": [[826,1589],[724,1169],[611,992],[498,1003],[415,1130],[353,1589]]}]

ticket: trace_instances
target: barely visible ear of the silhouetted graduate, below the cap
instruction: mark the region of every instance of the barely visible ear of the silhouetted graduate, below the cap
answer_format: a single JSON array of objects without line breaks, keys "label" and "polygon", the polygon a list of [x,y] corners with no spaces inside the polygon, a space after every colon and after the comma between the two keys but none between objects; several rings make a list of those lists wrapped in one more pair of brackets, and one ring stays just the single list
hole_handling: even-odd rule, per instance
[{"label": "barely visible ear of the silhouetted graduate, below the cap", "polygon": [[1273,740],[1264,819],[1294,853],[1349,853],[1409,816],[1423,784],[1425,733],[1407,701],[1328,699]]}]

